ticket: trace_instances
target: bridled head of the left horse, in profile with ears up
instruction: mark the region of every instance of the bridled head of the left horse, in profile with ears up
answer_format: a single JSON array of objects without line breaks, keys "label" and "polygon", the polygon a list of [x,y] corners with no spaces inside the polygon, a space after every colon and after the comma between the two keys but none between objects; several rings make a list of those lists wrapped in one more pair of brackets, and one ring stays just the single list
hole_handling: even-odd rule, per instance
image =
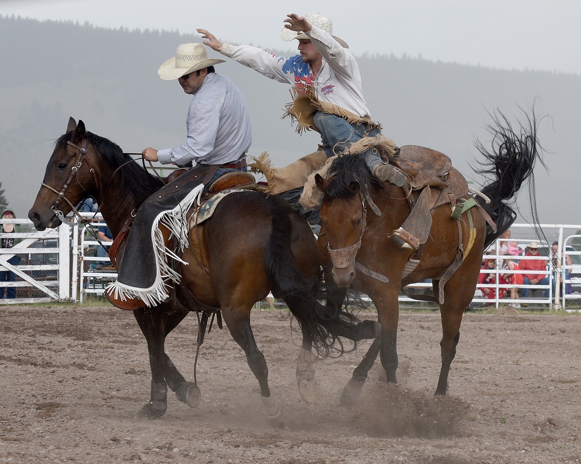
[{"label": "bridled head of the left horse, in profile with ears up", "polygon": [[60,218],[97,188],[95,170],[89,165],[92,144],[87,139],[83,121],[69,119],[67,132],[55,143],[46,165],[33,207],[28,218],[38,230],[58,227]]}]

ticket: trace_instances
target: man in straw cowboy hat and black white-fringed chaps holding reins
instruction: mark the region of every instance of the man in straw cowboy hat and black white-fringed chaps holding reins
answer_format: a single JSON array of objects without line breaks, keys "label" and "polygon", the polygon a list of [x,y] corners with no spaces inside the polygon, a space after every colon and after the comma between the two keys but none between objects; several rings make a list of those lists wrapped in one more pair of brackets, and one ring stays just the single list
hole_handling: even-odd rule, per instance
[{"label": "man in straw cowboy hat and black white-fringed chaps holding reins", "polygon": [[[120,296],[121,301],[135,300],[132,303],[136,307],[155,306],[168,298],[168,287],[173,284],[167,281],[178,282],[180,276],[167,264],[167,257],[173,256],[174,251],[166,249],[163,238],[153,231],[162,222],[184,241],[180,230],[185,229],[182,221],[189,206],[219,176],[247,171],[246,153],[252,143],[250,117],[242,92],[214,70],[214,64],[219,63],[225,61],[209,59],[202,44],[181,44],[175,57],[157,70],[160,78],[177,80],[184,93],[192,96],[186,118],[187,137],[173,148],[147,147],[142,153],[148,161],[196,165],[150,195],[139,207],[117,281],[107,288],[114,305],[119,303]],[[175,225],[177,230],[171,229],[171,224],[179,224]]]}]

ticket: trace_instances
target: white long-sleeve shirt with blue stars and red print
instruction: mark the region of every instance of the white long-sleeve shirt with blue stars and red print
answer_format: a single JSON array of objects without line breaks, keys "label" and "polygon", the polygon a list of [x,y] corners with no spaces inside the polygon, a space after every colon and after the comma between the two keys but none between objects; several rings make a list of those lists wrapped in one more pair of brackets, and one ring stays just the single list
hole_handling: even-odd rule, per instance
[{"label": "white long-sleeve shirt with blue stars and red print", "polygon": [[355,57],[321,28],[313,26],[307,35],[322,56],[317,78],[313,78],[311,67],[303,63],[300,55],[278,57],[250,45],[231,44],[222,44],[221,53],[270,79],[296,86],[299,90],[303,85],[311,85],[317,90],[321,101],[345,108],[359,117],[371,118]]}]

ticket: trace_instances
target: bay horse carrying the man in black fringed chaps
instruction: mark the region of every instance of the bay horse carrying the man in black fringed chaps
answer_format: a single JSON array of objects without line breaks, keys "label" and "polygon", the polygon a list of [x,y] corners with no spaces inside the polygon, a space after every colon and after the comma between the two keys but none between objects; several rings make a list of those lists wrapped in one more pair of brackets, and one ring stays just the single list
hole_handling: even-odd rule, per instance
[{"label": "bay horse carrying the man in black fringed chaps", "polygon": [[[142,201],[162,185],[119,146],[86,131],[83,121],[77,124],[70,118],[66,133],[56,140],[28,217],[37,230],[58,227],[63,215],[76,211],[73,205],[92,196],[117,236]],[[163,416],[167,387],[191,407],[200,401],[196,383],[186,381],[164,351],[166,336],[189,311],[221,312],[259,382],[263,412],[271,420],[279,418],[281,409],[271,396],[268,367],[250,327],[254,303],[272,291],[299,322],[303,344],[297,383],[307,402],[313,401],[309,396],[314,382],[311,347],[322,357],[332,349],[345,351],[338,336],[356,341],[375,336],[376,322],[356,325],[358,320],[336,310],[337,305],[322,306],[315,237],[306,221],[280,198],[257,191],[227,195],[210,219],[190,231],[189,240],[189,248],[181,256],[189,265],[181,265],[182,281],[177,286],[177,290],[185,287],[184,291],[159,306],[133,311],[147,340],[152,374],[150,400],[137,413],[138,418]],[[122,243],[117,257],[123,248]]]}]

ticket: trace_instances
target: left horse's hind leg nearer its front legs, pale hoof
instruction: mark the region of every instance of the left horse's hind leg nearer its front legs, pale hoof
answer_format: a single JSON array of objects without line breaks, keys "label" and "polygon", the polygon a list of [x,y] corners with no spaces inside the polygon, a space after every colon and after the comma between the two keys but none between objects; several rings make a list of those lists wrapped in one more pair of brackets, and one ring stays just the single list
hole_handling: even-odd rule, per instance
[{"label": "left horse's hind leg nearer its front legs, pale hoof", "polygon": [[256,345],[256,340],[254,340],[254,334],[250,327],[250,309],[235,309],[222,306],[222,314],[232,338],[244,350],[250,370],[258,380],[264,416],[267,420],[277,420],[281,416],[281,408],[277,400],[270,394],[268,366],[264,355]]}]

